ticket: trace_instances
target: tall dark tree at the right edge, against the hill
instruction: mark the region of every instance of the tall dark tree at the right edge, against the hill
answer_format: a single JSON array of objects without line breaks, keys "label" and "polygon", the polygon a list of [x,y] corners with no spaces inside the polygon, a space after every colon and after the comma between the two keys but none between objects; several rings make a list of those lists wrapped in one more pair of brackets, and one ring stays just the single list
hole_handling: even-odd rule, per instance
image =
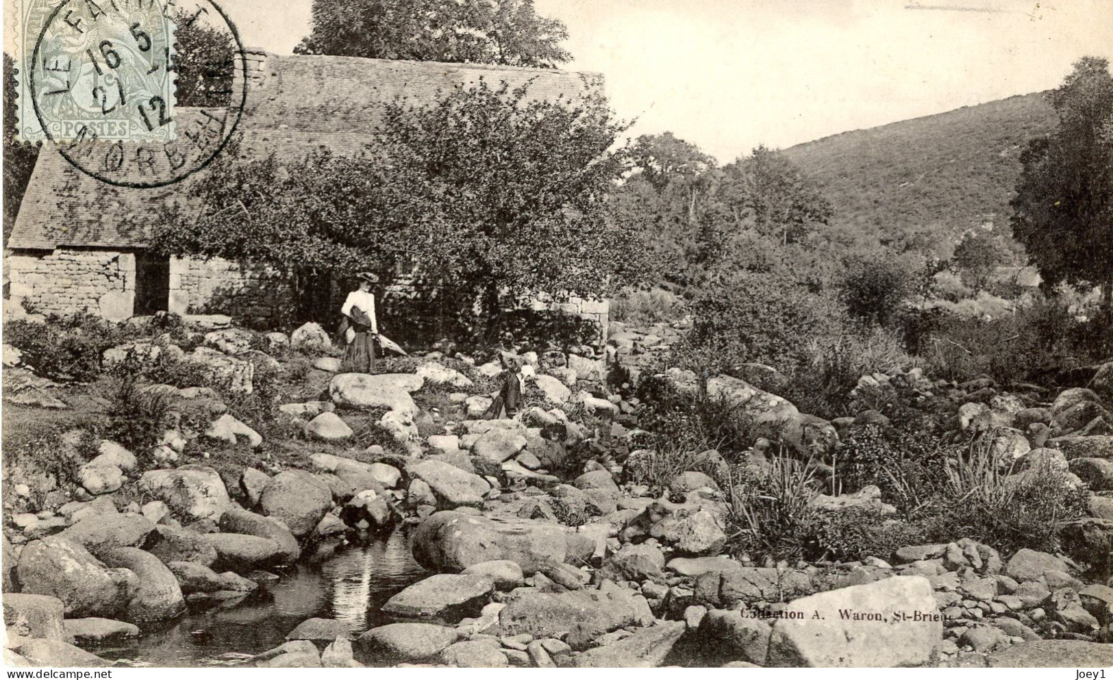
[{"label": "tall dark tree at the right edge, against the hill", "polygon": [[1113,76],[1085,57],[1052,93],[1060,125],[1032,139],[1013,206],[1013,235],[1045,286],[1100,286],[1113,318]]}]

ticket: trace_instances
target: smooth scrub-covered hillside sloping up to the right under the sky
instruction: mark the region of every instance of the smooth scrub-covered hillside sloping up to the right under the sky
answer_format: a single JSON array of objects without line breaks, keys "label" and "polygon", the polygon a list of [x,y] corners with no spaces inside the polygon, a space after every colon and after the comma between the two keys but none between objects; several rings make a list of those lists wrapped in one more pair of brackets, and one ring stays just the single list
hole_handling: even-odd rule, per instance
[{"label": "smooth scrub-covered hillside sloping up to the right under the sky", "polygon": [[[785,149],[825,185],[836,224],[922,245],[993,223],[1007,234],[1020,154],[1051,131],[1043,92],[855,130]],[[902,236],[904,235],[904,236]]]}]

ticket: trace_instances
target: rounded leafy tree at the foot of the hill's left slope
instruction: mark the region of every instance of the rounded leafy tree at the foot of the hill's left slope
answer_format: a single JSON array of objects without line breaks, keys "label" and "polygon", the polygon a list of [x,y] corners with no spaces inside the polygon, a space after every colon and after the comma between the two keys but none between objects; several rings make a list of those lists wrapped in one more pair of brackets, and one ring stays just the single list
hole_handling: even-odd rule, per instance
[{"label": "rounded leafy tree at the foot of the hill's left slope", "polygon": [[723,168],[722,200],[735,221],[752,224],[782,245],[826,225],[831,205],[819,186],[780,151],[759,146]]}]

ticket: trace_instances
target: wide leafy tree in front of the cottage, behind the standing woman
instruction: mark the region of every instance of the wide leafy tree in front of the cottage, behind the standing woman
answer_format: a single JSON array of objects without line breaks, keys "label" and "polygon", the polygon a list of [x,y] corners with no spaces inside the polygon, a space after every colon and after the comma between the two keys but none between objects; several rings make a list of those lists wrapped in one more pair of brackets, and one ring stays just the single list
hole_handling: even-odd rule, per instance
[{"label": "wide leafy tree in front of the cottage, behind the standing woman", "polygon": [[381,139],[358,158],[225,154],[189,201],[167,208],[155,244],[272,266],[305,299],[319,298],[322,277],[402,264],[474,293],[491,328],[518,296],[599,295],[646,279],[642,234],[608,215],[627,169],[609,149],[626,125],[602,95],[529,101],[528,87],[480,82],[427,107],[392,102]]}]

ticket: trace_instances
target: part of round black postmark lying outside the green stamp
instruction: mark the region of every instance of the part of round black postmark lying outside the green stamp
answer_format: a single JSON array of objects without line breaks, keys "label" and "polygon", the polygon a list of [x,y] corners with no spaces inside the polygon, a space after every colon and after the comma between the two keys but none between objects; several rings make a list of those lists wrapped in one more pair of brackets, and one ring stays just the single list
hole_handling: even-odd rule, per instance
[{"label": "part of round black postmark lying outside the green stamp", "polygon": [[[56,14],[72,2],[58,6]],[[118,2],[119,0],[117,0]],[[148,0],[141,0],[148,1]],[[128,140],[105,138],[98,130],[78,129],[73,139],[57,144],[58,152],[79,171],[100,181],[129,188],[155,188],[175,184],[197,173],[224,150],[235,134],[247,100],[247,58],[239,33],[224,10],[211,0],[197,0],[188,9],[168,0],[170,11],[177,12],[178,45],[170,49],[168,71],[177,83],[176,100],[190,106],[178,106],[173,112],[173,138]],[[55,17],[57,18],[57,17]],[[194,27],[204,22],[204,29]],[[48,19],[49,23],[49,19]],[[46,26],[43,28],[46,30]],[[189,39],[190,30],[204,30],[201,38]],[[180,53],[181,42],[204,42],[210,47],[198,56],[188,49]],[[213,49],[216,45],[218,48]],[[181,61],[188,60],[188,63]],[[188,78],[187,78],[188,76]],[[28,78],[33,85],[36,79]],[[187,80],[183,91],[183,80]],[[32,98],[36,118],[47,139],[51,137],[49,120]],[[148,116],[150,110],[147,111]],[[150,121],[152,124],[155,120]],[[146,129],[146,122],[140,121]]]}]

